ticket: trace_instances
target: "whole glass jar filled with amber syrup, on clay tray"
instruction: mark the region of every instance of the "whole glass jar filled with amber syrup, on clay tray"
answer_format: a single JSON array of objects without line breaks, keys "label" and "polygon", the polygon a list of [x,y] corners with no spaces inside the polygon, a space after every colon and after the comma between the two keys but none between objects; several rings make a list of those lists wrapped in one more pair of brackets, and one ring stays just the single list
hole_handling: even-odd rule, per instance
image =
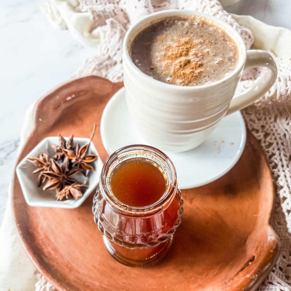
[{"label": "whole glass jar filled with amber syrup, on clay tray", "polygon": [[182,205],[171,160],[150,146],[132,145],[104,163],[93,213],[111,256],[141,267],[170,248]]}]

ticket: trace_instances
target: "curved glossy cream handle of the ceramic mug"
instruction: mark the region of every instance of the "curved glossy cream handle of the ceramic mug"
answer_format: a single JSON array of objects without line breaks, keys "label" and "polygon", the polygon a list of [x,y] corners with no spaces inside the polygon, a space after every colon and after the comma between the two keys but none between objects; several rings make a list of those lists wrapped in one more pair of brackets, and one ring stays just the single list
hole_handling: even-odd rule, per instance
[{"label": "curved glossy cream handle of the ceramic mug", "polygon": [[244,70],[258,67],[266,67],[270,70],[258,77],[251,88],[233,97],[230,101],[226,115],[253,104],[255,100],[265,94],[272,87],[277,78],[277,66],[273,57],[269,53],[259,49],[246,51]]}]

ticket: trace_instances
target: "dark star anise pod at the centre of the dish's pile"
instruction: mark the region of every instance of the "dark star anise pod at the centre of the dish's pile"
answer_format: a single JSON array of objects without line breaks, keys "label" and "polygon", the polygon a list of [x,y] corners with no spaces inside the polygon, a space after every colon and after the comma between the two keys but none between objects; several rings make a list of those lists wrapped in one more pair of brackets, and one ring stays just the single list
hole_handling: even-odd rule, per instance
[{"label": "dark star anise pod at the centre of the dish's pile", "polygon": [[79,169],[72,169],[68,171],[69,160],[65,157],[63,164],[60,166],[54,159],[52,159],[52,166],[50,171],[42,172],[49,181],[42,188],[43,190],[62,190],[66,185],[77,182],[72,178],[73,175],[77,174]]}]

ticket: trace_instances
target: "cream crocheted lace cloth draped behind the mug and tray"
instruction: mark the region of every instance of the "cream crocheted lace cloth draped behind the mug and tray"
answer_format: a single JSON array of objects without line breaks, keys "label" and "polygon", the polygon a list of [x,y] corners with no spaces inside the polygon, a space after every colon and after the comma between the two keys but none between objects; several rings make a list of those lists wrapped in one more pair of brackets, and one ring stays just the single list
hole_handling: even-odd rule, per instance
[{"label": "cream crocheted lace cloth draped behind the mug and tray", "polygon": [[[217,0],[51,0],[42,6],[53,25],[68,28],[79,42],[96,48],[96,56],[88,59],[74,77],[96,74],[111,81],[122,80],[122,41],[126,30],[143,16],[165,9],[188,9],[214,15],[233,26],[248,49],[254,42],[251,30],[239,25]],[[251,27],[248,19],[240,20]],[[279,260],[260,290],[288,291],[291,290],[291,49],[285,51],[282,46],[291,47],[291,32],[270,28],[270,33],[257,25],[255,41],[264,33],[270,39],[269,45],[265,41],[257,47],[272,50],[278,78],[265,96],[242,113],[269,158],[276,183],[271,223],[281,240]],[[274,45],[275,41],[278,45]],[[237,91],[248,88],[260,73],[259,69],[245,72]],[[54,290],[40,274],[37,277],[37,291]]]}]

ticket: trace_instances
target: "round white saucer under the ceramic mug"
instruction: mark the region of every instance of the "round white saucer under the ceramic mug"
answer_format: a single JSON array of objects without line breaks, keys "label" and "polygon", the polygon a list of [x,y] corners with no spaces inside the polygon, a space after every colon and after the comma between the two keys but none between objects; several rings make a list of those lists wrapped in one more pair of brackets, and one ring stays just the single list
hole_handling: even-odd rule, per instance
[{"label": "round white saucer under the ceramic mug", "polygon": [[[108,101],[101,117],[101,139],[107,153],[126,145],[146,144],[134,127],[121,88]],[[212,182],[238,161],[246,142],[246,127],[239,111],[224,117],[207,140],[187,152],[165,152],[175,165],[178,187],[188,189]],[[162,149],[161,149],[162,150]]]}]

